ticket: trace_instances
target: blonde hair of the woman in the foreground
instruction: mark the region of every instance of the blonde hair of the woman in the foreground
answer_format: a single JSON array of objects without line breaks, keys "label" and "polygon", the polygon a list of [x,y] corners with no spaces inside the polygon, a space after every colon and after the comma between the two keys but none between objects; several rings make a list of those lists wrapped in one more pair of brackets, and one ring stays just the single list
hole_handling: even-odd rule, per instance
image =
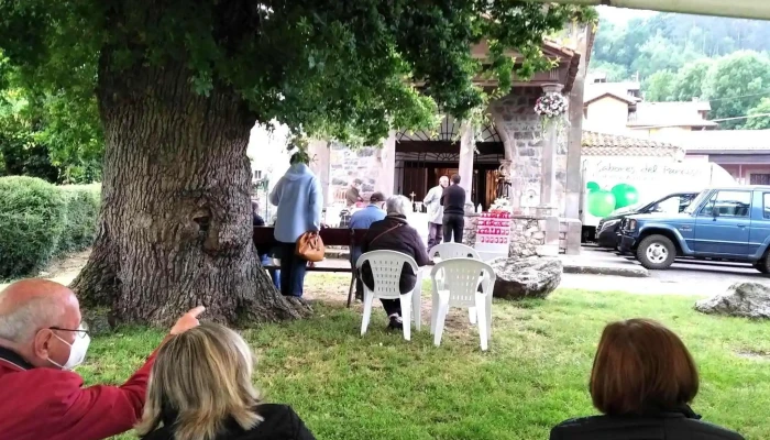
[{"label": "blonde hair of the woman in the foreground", "polygon": [[249,344],[227,327],[204,323],[174,337],[158,350],[136,432],[148,435],[164,416],[175,440],[213,440],[229,421],[254,428],[262,417],[253,369]]}]

